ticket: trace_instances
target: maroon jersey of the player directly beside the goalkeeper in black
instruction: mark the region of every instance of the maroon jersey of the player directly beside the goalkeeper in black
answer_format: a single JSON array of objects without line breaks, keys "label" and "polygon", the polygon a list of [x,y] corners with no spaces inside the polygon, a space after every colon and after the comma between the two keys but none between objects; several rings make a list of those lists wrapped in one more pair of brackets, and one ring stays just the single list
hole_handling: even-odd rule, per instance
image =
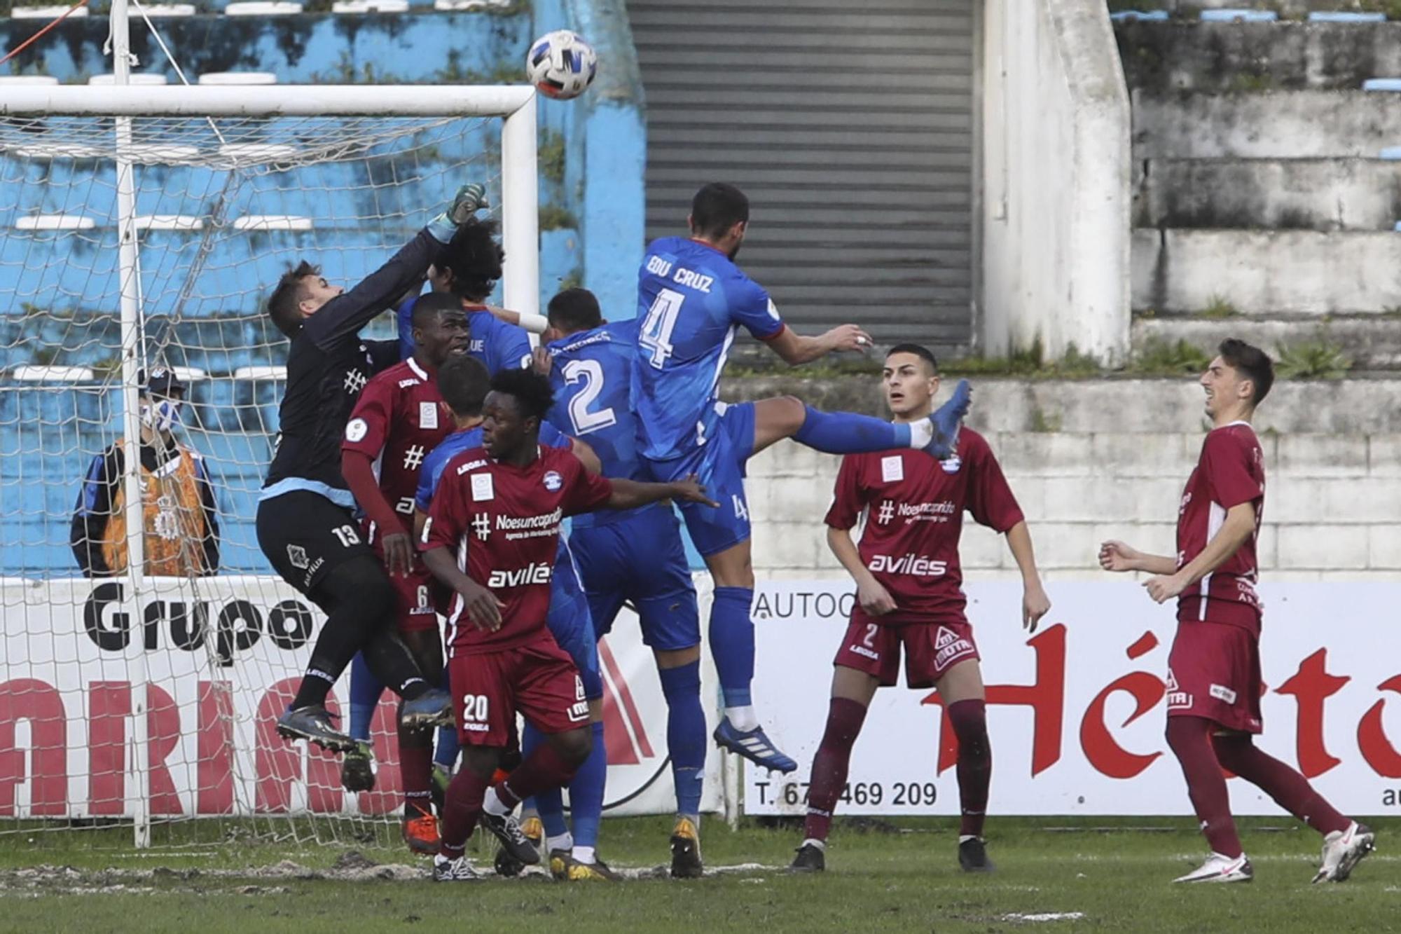
[{"label": "maroon jersey of the player directly beside the goalkeeper in black", "polygon": [[[413,358],[375,374],[356,400],[340,450],[374,459],[380,492],[403,524],[395,532],[413,533],[419,468],[453,428],[453,412],[439,393],[437,380]],[[377,534],[373,523],[366,532],[373,543],[387,534]]]}]

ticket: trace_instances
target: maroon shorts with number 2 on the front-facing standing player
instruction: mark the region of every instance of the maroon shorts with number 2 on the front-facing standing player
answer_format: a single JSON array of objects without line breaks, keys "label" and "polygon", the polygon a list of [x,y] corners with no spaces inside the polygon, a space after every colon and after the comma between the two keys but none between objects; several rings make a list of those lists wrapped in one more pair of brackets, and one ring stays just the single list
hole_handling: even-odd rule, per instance
[{"label": "maroon shorts with number 2 on the front-facing standing player", "polygon": [[906,687],[933,687],[954,665],[978,659],[978,644],[967,621],[880,625],[852,620],[832,663],[866,672],[880,679],[881,687],[891,687],[899,677],[901,645]]}]

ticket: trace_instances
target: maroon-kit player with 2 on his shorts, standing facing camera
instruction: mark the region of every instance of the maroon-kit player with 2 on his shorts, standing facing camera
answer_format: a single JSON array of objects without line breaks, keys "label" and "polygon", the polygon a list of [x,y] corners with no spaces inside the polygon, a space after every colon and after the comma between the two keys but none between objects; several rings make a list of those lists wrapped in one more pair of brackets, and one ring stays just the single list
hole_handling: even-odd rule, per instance
[{"label": "maroon-kit player with 2 on his shorts, standing facing camera", "polygon": [[[897,422],[916,422],[933,411],[939,370],[923,346],[891,348],[881,380]],[[1021,509],[981,435],[961,429],[947,460],[913,450],[842,459],[827,513],[827,543],[856,581],[856,606],[836,652],[827,731],[813,759],[794,871],[825,868],[827,833],[846,784],[852,745],[876,689],[895,684],[901,647],[906,684],[936,687],[958,736],[958,862],[967,871],[993,868],[982,840],[992,752],[978,647],[960,586],[958,536],[965,509],[979,523],[1006,533],[1021,569],[1023,624],[1034,631],[1051,602],[1041,588]],[[857,546],[850,530],[862,515],[866,526]]]}]

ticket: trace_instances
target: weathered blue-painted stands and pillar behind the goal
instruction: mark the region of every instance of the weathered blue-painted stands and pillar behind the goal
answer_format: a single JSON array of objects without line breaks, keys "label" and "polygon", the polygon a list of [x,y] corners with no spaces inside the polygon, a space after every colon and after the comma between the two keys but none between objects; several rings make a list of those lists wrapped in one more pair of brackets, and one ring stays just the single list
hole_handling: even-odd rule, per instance
[{"label": "weathered blue-painted stands and pillar behind the goal", "polygon": [[[223,0],[200,4],[221,8]],[[541,100],[541,299],[560,286],[594,289],[608,317],[630,317],[643,250],[644,121],[642,86],[621,0],[537,0],[502,11],[402,15],[224,17],[158,20],[193,81],[207,72],[272,72],[283,83],[516,83],[530,41],[555,28],[587,35],[600,77],[581,98]],[[0,22],[11,49],[42,21]],[[84,83],[111,70],[101,55],[104,17],[59,24],[7,67]],[[137,72],[174,70],[133,22]],[[251,93],[256,90],[251,88]],[[319,261],[328,278],[357,280],[382,262],[370,243],[408,238],[461,180],[447,165],[499,151],[489,126],[467,139],[427,140],[440,158],[412,171],[392,161],[315,165],[258,175],[230,189],[209,168],[137,170],[139,213],[175,213],[226,196],[226,217],[305,215],[308,233],[214,237],[150,231],[143,237],[146,337],[167,363],[214,379],[192,386],[184,435],[209,459],[224,515],[224,569],[266,571],[252,534],[254,503],[276,432],[279,386],[231,379],[238,366],[280,363],[286,346],[261,316],[258,283],[293,258]],[[425,150],[429,151],[429,150]],[[389,175],[377,174],[380,170]],[[402,172],[392,174],[392,172]],[[81,236],[17,231],[35,213],[83,213]],[[367,238],[366,217],[377,229]],[[111,365],[116,327],[115,175],[109,165],[0,156],[0,372],[21,363]],[[198,287],[188,271],[199,264]],[[252,283],[252,285],[251,285]],[[230,297],[231,296],[231,297]],[[387,332],[384,324],[377,331]],[[67,575],[69,517],[92,454],[120,432],[116,386],[32,386],[0,377],[0,575]]]}]

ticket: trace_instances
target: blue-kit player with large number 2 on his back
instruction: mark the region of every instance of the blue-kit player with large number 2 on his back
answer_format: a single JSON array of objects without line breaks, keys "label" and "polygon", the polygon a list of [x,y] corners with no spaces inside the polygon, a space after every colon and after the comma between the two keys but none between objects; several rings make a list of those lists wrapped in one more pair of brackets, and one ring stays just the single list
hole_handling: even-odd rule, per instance
[{"label": "blue-kit player with large number 2 on his back", "polygon": [[[549,300],[546,370],[555,390],[549,419],[587,438],[605,477],[643,480],[637,424],[629,402],[637,321],[605,323],[587,289]],[[667,698],[667,752],[677,788],[671,875],[695,878],[700,862],[705,711],[700,707],[700,623],[675,513],[664,503],[574,516],[569,533],[597,635],[630,602],[642,639],[657,659]]]}]

